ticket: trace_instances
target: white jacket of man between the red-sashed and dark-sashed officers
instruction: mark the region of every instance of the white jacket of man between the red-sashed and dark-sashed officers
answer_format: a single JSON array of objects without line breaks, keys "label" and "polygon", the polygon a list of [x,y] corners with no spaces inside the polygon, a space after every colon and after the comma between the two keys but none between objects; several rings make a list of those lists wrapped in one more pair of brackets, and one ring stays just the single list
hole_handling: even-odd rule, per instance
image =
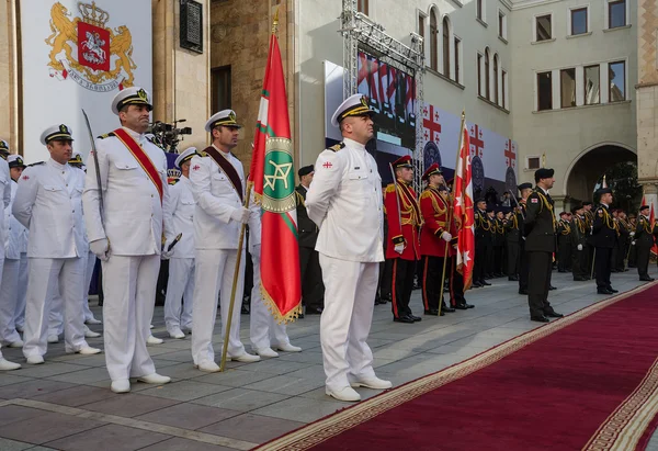
[{"label": "white jacket of man between the red-sashed and dark-sashed officers", "polygon": [[192,194],[192,183],[190,179],[181,176],[177,184],[169,187],[169,201],[164,205],[167,243],[173,241],[178,234],[183,234],[173,248],[171,258],[194,258],[195,210],[196,201]]}]

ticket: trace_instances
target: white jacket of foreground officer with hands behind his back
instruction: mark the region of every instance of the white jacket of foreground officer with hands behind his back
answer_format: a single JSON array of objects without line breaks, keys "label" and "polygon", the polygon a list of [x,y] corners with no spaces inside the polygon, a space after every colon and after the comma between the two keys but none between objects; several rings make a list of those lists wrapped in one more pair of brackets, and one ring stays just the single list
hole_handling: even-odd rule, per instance
[{"label": "white jacket of foreground officer with hands behind his back", "polygon": [[384,261],[382,178],[365,146],[344,139],[322,151],[306,194],[308,217],[318,224],[316,250],[341,260]]}]

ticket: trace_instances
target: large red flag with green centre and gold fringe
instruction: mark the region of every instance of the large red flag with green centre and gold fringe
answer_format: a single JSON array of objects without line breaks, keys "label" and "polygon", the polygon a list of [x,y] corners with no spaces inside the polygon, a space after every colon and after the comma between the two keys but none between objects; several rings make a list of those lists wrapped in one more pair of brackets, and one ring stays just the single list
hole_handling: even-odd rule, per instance
[{"label": "large red flag with green centre and gold fringe", "polygon": [[302,312],[295,171],[281,52],[276,35],[263,80],[249,180],[262,205],[261,293],[280,323]]}]

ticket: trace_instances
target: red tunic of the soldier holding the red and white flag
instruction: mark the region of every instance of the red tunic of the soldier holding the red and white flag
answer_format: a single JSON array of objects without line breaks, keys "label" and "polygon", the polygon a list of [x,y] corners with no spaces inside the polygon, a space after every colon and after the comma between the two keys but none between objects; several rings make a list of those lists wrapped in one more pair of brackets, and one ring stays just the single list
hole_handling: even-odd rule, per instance
[{"label": "red tunic of the soldier holding the red and white flag", "polygon": [[[450,194],[445,190],[428,187],[420,195],[420,211],[424,225],[420,232],[420,253],[422,256],[445,257],[445,246],[441,238],[443,232],[456,235],[454,222],[446,227],[451,210]],[[447,257],[455,255],[452,246],[447,246]]]}]

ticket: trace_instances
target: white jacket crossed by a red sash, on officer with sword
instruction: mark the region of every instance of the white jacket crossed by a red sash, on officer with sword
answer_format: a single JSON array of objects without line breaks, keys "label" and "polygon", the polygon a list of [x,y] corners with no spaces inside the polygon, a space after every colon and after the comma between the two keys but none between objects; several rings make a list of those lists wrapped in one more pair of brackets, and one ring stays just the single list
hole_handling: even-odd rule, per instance
[{"label": "white jacket crossed by a red sash, on officer with sword", "polygon": [[[162,204],[168,202],[167,157],[144,135],[124,129],[137,140],[160,174],[163,198],[133,154],[115,136],[95,140],[99,154],[104,217],[99,212],[99,185],[93,155],[84,180],[84,221],[89,243],[107,238],[115,256],[160,255],[162,247]],[[105,135],[104,135],[105,136]]]}]

